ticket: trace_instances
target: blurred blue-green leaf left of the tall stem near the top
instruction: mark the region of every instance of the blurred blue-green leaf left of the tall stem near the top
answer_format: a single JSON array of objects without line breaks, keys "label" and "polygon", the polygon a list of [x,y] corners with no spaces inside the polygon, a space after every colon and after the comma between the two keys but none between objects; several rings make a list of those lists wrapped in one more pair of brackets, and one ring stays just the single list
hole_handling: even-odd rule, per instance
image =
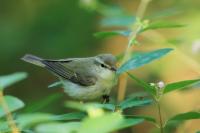
[{"label": "blurred blue-green leaf left of the tall stem near the top", "polygon": [[128,27],[136,22],[136,18],[133,16],[121,16],[121,17],[107,17],[101,21],[103,27]]}]

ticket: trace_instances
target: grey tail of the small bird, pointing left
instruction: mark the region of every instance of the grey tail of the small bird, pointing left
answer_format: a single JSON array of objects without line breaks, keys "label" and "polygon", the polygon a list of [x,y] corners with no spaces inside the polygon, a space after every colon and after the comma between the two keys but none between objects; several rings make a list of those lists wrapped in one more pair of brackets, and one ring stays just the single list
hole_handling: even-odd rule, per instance
[{"label": "grey tail of the small bird, pointing left", "polygon": [[34,65],[40,66],[40,67],[45,67],[45,65],[42,63],[42,58],[39,58],[34,55],[26,54],[24,57],[21,58],[23,61],[32,63]]}]

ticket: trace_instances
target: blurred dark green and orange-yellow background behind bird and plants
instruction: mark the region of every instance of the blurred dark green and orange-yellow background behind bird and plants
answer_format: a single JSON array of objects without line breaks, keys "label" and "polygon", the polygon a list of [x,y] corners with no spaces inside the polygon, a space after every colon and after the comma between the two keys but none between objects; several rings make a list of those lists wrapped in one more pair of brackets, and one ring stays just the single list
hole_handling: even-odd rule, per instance
[{"label": "blurred dark green and orange-yellow background behind bird and plants", "polygon": [[[92,3],[92,0],[82,2]],[[135,15],[140,0],[101,2],[121,6],[129,14]],[[178,22],[187,24],[187,27],[150,31],[140,36],[138,39],[141,45],[136,46],[135,50],[148,51],[161,47],[173,47],[176,50],[165,59],[135,70],[135,74],[149,82],[173,82],[199,77],[199,5],[199,0],[152,0],[145,18],[152,21]],[[17,71],[29,73],[27,80],[6,90],[6,93],[19,97],[27,106],[49,95],[62,94],[62,89],[47,88],[56,81],[48,71],[20,60],[24,54],[31,53],[44,58],[58,59],[94,56],[105,52],[115,55],[122,53],[127,44],[126,38],[101,40],[93,36],[95,31],[101,30],[98,25],[101,17],[101,13],[95,9],[80,6],[78,0],[0,0],[0,74],[6,75]],[[137,86],[130,84],[128,92],[139,90],[134,88]],[[113,92],[116,94],[117,89]],[[199,89],[166,96],[163,100],[166,109],[164,115],[168,117],[177,112],[199,108],[200,99],[197,94]],[[62,107],[63,100],[68,97],[64,94],[58,97],[56,102],[41,111],[66,111]],[[188,104],[185,101],[188,101]],[[154,114],[152,108],[139,112]],[[146,130],[149,130],[150,126],[146,126]],[[199,125],[191,123],[186,123],[185,126],[187,133],[200,128]],[[141,131],[141,128],[138,126],[136,129]]]}]

